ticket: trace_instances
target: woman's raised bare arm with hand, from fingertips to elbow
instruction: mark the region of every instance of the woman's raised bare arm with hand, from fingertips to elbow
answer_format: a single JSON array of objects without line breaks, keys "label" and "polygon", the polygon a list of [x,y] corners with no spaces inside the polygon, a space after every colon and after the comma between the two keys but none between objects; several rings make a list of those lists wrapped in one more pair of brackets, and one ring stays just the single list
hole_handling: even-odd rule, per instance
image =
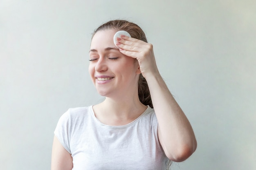
[{"label": "woman's raised bare arm with hand, from fingertips to elbow", "polygon": [[177,104],[159,74],[153,45],[122,36],[117,39],[120,52],[136,58],[142,75],[148,82],[155,114],[159,124],[159,141],[172,161],[184,161],[196,149],[197,142],[189,120]]}]

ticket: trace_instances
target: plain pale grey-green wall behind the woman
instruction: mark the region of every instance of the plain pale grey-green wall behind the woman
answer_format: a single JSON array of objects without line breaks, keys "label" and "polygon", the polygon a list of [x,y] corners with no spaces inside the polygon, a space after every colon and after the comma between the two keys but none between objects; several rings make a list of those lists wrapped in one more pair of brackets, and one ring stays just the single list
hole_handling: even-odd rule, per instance
[{"label": "plain pale grey-green wall behind the woman", "polygon": [[91,33],[110,19],[144,29],[198,149],[173,170],[256,169],[255,0],[0,0],[0,167],[50,169],[53,131],[99,103]]}]

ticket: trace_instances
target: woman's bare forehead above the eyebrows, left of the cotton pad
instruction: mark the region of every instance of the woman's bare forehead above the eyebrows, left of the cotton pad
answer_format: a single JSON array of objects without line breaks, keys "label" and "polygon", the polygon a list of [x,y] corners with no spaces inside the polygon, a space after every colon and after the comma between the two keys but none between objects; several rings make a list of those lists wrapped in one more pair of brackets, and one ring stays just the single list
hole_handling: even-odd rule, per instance
[{"label": "woman's bare forehead above the eyebrows, left of the cotton pad", "polygon": [[91,49],[107,48],[115,46],[114,35],[117,31],[115,29],[101,30],[94,34],[91,42]]}]

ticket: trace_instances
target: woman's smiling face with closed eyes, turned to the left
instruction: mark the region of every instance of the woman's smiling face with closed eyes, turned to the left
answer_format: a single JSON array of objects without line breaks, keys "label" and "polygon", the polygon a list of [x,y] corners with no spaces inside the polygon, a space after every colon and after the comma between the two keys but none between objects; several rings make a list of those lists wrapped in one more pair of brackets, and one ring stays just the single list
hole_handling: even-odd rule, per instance
[{"label": "woman's smiling face with closed eyes, turned to the left", "polygon": [[137,92],[139,64],[115,46],[116,32],[108,29],[95,33],[89,52],[90,77],[98,93],[105,97],[125,97]]}]

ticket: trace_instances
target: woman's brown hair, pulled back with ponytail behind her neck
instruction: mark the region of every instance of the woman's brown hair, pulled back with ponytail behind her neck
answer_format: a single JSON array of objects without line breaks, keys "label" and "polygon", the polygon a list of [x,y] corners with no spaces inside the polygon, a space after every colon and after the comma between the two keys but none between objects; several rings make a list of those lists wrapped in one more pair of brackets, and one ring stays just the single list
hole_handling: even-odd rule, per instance
[{"label": "woman's brown hair, pulled back with ponytail behind her neck", "polygon": [[[126,21],[126,20],[111,20],[108,21],[101,26],[99,26],[97,29],[94,30],[94,33],[92,34],[92,37],[97,33],[98,31],[107,30],[107,29],[116,29],[117,31],[127,31],[132,38],[136,38],[138,40],[142,40],[144,42],[148,42],[146,39],[146,35],[143,32],[143,30],[135,23]],[[148,88],[148,83],[146,79],[142,76],[142,74],[139,75],[139,81],[138,81],[138,94],[139,94],[139,100],[142,104],[148,105],[151,108],[153,108],[153,104],[151,101],[151,96]]]}]

